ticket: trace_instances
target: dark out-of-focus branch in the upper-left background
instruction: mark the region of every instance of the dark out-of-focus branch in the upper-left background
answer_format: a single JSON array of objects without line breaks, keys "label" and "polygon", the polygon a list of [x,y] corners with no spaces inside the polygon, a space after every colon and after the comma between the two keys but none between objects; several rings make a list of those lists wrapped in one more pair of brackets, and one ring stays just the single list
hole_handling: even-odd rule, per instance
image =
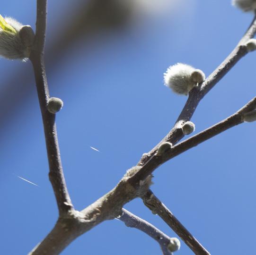
[{"label": "dark out-of-focus branch in the upper-left background", "polygon": [[[87,38],[85,43],[88,43],[88,40],[91,40],[95,34],[124,30],[130,24],[131,14],[132,5],[122,4],[119,0],[80,0],[76,9],[59,17],[60,21],[56,17],[53,28],[56,30],[54,34],[58,36],[54,38],[45,52],[48,76],[59,66],[58,63],[62,61],[63,56],[66,55],[65,52],[74,42],[80,38]],[[63,18],[65,18],[64,26]],[[58,22],[61,26],[58,26]],[[9,124],[9,119],[13,116],[12,112],[20,109],[18,105],[27,102],[27,98],[32,95],[31,88],[34,83],[32,77],[27,66],[21,65],[19,69],[12,71],[11,76],[5,81],[5,87],[0,93],[0,109],[8,105],[8,111],[0,110],[1,128]],[[57,84],[54,83],[53,86]]]}]

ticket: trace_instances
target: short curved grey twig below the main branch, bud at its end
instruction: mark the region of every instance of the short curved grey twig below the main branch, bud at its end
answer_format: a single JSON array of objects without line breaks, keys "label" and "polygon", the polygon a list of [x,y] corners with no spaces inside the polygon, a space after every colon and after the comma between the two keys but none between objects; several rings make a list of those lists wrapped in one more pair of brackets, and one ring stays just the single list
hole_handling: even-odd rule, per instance
[{"label": "short curved grey twig below the main branch, bud at its end", "polygon": [[141,219],[124,208],[122,211],[123,214],[117,218],[118,220],[123,221],[127,227],[139,229],[149,235],[151,238],[155,239],[159,243],[164,255],[172,254],[168,249],[166,249],[170,243],[170,237],[150,224],[148,221]]}]

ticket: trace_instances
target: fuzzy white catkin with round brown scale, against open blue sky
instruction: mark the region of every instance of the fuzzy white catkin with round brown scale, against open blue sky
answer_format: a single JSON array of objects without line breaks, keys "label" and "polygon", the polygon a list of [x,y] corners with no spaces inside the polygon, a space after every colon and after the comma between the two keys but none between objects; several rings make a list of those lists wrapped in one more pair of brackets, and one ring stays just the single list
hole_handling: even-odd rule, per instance
[{"label": "fuzzy white catkin with round brown scale, against open blue sky", "polygon": [[184,95],[187,95],[204,78],[203,71],[183,63],[170,66],[164,73],[165,85],[171,88],[173,92]]}]

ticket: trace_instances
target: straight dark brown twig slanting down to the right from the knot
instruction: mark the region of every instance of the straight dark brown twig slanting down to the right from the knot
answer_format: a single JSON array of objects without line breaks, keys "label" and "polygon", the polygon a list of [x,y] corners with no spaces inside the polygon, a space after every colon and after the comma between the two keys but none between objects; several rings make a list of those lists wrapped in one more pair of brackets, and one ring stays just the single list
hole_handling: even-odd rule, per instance
[{"label": "straight dark brown twig slanting down to the right from the knot", "polygon": [[176,234],[196,255],[210,255],[210,253],[194,238],[194,236],[177,220],[172,212],[149,189],[143,196],[144,204],[155,214],[158,214],[173,229]]}]

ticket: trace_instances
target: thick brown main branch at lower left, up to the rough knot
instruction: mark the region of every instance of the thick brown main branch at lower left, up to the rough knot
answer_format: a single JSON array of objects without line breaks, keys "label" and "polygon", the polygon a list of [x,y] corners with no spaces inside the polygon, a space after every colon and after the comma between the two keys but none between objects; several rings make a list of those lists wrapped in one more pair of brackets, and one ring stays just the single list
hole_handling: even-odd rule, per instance
[{"label": "thick brown main branch at lower left, up to the rough knot", "polygon": [[[122,207],[140,194],[124,176],[114,189],[100,197],[81,212],[70,210],[60,215],[53,230],[38,244],[30,255],[57,255],[75,238],[106,220],[122,215]],[[148,187],[147,187],[148,189]],[[146,190],[146,189],[145,189]]]}]

